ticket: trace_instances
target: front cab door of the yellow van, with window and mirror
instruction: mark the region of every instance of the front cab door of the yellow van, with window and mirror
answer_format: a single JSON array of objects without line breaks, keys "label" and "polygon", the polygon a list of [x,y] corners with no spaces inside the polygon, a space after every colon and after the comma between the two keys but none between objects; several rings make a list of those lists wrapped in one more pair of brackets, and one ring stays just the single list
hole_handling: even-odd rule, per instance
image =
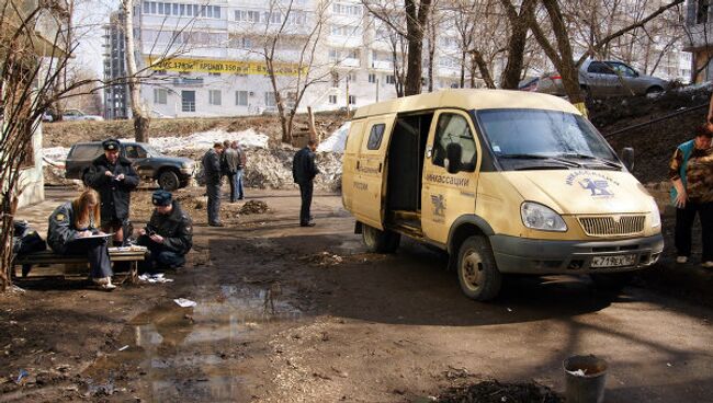
[{"label": "front cab door of the yellow van, with window and mirror", "polygon": [[421,228],[426,238],[446,244],[453,221],[475,212],[480,154],[471,117],[463,111],[440,110],[423,161]]}]

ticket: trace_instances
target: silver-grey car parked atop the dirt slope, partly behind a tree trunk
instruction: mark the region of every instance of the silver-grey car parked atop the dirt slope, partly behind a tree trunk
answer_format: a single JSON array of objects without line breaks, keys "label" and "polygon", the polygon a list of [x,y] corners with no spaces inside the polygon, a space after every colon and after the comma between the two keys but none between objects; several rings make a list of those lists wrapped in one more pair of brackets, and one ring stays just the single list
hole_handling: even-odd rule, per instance
[{"label": "silver-grey car parked atop the dirt slope, partly behind a tree trunk", "polygon": [[[595,97],[631,96],[664,92],[670,82],[642,74],[622,61],[587,60],[579,68],[579,87]],[[543,74],[536,91],[564,96],[562,76],[557,72]]]}]

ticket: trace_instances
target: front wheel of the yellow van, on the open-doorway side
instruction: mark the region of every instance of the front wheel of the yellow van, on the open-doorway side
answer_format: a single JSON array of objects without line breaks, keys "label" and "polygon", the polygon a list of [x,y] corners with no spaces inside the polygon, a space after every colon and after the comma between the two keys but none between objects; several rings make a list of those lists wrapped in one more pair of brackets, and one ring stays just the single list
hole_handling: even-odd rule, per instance
[{"label": "front wheel of the yellow van, on the open-doorway side", "polygon": [[497,297],[502,287],[490,242],[483,235],[466,239],[459,250],[457,275],[461,290],[476,301]]}]

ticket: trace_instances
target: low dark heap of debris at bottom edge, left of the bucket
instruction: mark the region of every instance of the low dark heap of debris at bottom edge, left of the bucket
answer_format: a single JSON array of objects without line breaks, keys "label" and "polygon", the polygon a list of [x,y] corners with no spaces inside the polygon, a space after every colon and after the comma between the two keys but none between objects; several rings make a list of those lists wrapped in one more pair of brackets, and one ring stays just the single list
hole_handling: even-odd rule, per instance
[{"label": "low dark heap of debris at bottom edge, left of the bucket", "polygon": [[452,388],[440,395],[440,403],[559,403],[564,399],[550,388],[537,383],[500,383],[483,381],[463,388]]}]

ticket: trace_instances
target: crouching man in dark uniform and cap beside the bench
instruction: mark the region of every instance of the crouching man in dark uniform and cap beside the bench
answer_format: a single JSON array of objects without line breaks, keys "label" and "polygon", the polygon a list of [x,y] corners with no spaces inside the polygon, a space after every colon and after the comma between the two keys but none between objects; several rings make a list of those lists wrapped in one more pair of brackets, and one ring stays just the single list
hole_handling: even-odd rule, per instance
[{"label": "crouching man in dark uniform and cap beside the bench", "polygon": [[142,263],[144,272],[177,268],[185,264],[185,254],[193,246],[193,224],[178,200],[166,191],[156,191],[151,197],[154,214],[145,229],[138,230],[137,244],[146,246],[150,255]]}]

